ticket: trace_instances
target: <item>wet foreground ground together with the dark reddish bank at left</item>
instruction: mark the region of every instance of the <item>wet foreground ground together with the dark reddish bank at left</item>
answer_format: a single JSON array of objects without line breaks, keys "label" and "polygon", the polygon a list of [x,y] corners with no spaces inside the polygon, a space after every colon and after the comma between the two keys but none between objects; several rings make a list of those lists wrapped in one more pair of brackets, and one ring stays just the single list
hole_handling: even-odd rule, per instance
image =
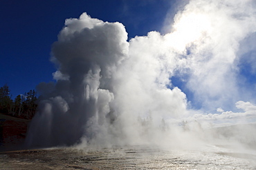
[{"label": "wet foreground ground together with the dark reddish bank at left", "polygon": [[[0,169],[256,169],[256,147],[196,149],[152,146],[22,150],[29,120],[0,114]],[[223,142],[221,142],[223,143]],[[17,150],[20,149],[20,150]]]}]

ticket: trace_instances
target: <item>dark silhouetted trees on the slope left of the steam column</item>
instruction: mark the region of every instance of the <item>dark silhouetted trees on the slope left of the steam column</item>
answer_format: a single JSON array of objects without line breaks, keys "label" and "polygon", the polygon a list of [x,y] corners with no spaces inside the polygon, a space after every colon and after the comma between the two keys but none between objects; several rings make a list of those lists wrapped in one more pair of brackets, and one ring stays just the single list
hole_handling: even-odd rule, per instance
[{"label": "dark silhouetted trees on the slope left of the steam column", "polygon": [[37,96],[34,89],[12,100],[8,85],[0,87],[0,112],[19,118],[33,118],[37,109]]}]

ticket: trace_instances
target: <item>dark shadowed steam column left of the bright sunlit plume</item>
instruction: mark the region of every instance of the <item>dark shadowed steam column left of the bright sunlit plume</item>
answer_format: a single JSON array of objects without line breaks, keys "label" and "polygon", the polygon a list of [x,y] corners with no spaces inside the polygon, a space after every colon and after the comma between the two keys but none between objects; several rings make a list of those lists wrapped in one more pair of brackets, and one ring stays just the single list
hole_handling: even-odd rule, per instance
[{"label": "dark shadowed steam column left of the bright sunlit plume", "polygon": [[[30,145],[71,145],[83,135],[97,133],[97,125],[104,124],[110,112],[112,74],[127,58],[129,43],[122,24],[104,23],[84,13],[80,19],[67,19],[65,25],[53,44],[57,83],[39,85],[43,96],[31,124]],[[91,128],[90,123],[93,131],[86,127]]]}]

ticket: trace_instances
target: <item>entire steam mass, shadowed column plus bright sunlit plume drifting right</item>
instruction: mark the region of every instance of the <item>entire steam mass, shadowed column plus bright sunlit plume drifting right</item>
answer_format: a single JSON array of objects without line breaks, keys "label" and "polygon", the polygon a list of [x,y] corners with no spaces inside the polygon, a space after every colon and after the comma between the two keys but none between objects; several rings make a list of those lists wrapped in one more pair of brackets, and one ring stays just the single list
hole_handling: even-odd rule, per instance
[{"label": "entire steam mass, shadowed column plus bright sunlit plume drifting right", "polygon": [[[255,76],[255,7],[250,0],[191,0],[166,25],[170,32],[129,41],[122,23],[86,12],[66,19],[52,46],[56,83],[37,86],[26,145],[255,142],[255,82],[246,79]],[[218,132],[223,126],[226,134]]]}]

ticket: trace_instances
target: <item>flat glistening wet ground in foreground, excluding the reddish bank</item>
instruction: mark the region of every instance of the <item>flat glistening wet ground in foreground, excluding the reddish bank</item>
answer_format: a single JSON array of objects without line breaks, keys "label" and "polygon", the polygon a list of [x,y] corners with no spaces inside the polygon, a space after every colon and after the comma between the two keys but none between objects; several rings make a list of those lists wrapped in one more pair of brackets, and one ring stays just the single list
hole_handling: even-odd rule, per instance
[{"label": "flat glistening wet ground in foreground, excluding the reddish bank", "polygon": [[249,153],[138,146],[37,149],[0,153],[0,169],[256,169],[255,160]]}]

